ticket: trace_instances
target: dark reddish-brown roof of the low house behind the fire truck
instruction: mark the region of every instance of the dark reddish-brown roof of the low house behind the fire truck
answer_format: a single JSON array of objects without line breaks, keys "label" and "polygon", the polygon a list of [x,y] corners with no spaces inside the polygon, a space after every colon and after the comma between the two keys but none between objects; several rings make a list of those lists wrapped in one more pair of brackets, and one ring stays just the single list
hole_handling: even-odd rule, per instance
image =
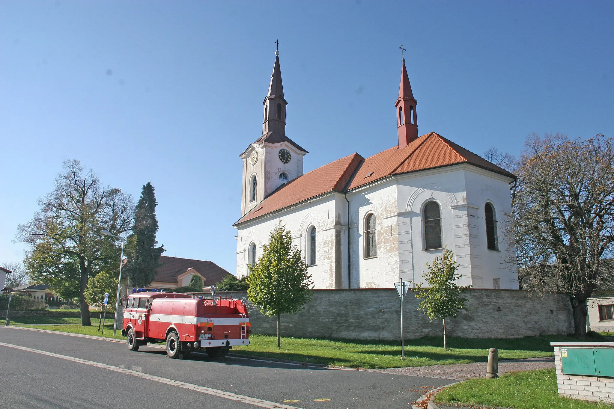
[{"label": "dark reddish-brown roof of the low house behind the fire truck", "polygon": [[178,257],[160,256],[160,263],[164,265],[158,268],[153,281],[158,283],[178,284],[177,277],[189,269],[195,269],[205,278],[206,285],[213,285],[222,281],[222,278],[230,274],[212,261],[182,259]]}]

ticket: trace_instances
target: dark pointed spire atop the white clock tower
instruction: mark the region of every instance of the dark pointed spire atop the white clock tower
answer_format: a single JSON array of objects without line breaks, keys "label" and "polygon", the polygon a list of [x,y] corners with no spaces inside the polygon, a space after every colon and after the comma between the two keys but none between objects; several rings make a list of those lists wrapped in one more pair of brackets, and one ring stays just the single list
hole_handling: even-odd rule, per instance
[{"label": "dark pointed spire atop the white clock tower", "polygon": [[279,51],[275,52],[275,64],[273,66],[273,74],[271,74],[269,91],[262,104],[265,105],[262,134],[266,135],[269,132],[274,132],[280,134],[280,136],[285,136],[286,105],[288,105],[288,102],[284,98],[284,85],[281,82]]}]

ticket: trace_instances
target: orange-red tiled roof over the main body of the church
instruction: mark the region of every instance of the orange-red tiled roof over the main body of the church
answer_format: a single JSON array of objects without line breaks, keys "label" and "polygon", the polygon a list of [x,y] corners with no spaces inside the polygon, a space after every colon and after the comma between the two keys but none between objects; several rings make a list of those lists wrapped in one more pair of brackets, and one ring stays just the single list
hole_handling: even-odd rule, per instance
[{"label": "orange-red tiled roof over the main body of the church", "polygon": [[235,226],[330,191],[348,191],[391,175],[461,163],[516,178],[507,170],[430,132],[406,147],[395,146],[367,159],[354,153],[295,178],[247,212]]}]

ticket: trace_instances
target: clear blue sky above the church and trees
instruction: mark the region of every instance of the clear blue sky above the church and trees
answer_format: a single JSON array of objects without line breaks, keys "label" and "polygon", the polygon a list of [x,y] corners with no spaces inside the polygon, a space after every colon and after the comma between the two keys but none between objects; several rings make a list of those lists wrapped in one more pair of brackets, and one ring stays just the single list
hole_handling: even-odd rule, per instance
[{"label": "clear blue sky above the church and trees", "polygon": [[614,2],[2,1],[0,263],[64,159],[138,199],[165,255],[235,271],[238,155],[262,132],[279,39],[305,172],[395,145],[400,50],[419,133],[513,154],[614,136]]}]

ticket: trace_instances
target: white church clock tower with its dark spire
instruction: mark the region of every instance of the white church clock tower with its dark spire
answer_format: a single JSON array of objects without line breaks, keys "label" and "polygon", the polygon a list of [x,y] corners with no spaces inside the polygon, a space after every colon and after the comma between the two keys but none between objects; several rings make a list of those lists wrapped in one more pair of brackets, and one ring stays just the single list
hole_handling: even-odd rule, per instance
[{"label": "white church clock tower with its dark spire", "polygon": [[286,136],[288,102],[281,82],[279,51],[275,52],[271,82],[262,104],[262,136],[239,155],[243,159],[241,216],[279,186],[303,174],[303,156],[307,151]]}]

